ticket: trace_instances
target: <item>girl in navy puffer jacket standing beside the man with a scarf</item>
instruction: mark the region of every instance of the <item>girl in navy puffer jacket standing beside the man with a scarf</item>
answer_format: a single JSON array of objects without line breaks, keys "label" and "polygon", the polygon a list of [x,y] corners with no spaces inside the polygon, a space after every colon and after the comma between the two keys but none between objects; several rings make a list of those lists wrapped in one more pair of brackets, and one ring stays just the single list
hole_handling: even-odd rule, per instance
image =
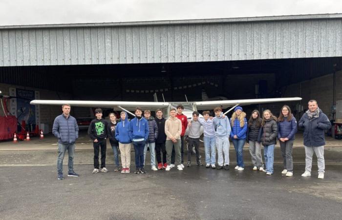
[{"label": "girl in navy puffer jacket standing beside the man with a scarf", "polygon": [[278,139],[284,164],[281,174],[286,176],[293,175],[292,148],[296,132],[296,118],[291,114],[290,107],[283,106],[278,117]]}]

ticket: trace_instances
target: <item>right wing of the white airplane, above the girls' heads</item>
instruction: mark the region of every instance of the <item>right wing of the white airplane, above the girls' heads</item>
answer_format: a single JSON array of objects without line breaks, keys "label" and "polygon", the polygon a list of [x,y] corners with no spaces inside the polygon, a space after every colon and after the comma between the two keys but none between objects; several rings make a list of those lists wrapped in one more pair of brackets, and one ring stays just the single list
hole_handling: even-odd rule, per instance
[{"label": "right wing of the white airplane, above the girls' heads", "polygon": [[194,102],[196,104],[197,110],[213,110],[217,106],[222,106],[222,109],[227,109],[228,107],[233,107],[235,105],[244,106],[251,104],[263,104],[271,102],[291,102],[300,101],[300,97],[292,98],[272,98],[272,99],[240,99],[240,100],[219,100],[219,101],[203,101]]}]

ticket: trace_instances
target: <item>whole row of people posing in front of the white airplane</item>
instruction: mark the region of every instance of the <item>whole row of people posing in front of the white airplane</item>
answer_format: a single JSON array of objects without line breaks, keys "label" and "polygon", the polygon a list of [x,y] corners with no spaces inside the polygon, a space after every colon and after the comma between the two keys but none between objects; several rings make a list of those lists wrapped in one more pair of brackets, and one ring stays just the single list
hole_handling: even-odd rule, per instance
[{"label": "whole row of people posing in front of the white airplane", "polygon": [[[200,128],[202,126],[206,168],[230,169],[229,138],[231,138],[236,153],[235,170],[243,171],[245,169],[243,147],[247,142],[249,143],[253,170],[272,175],[274,173],[274,148],[278,139],[284,167],[281,174],[293,176],[292,149],[297,127],[299,126],[304,129],[303,139],[306,154],[305,172],[301,176],[311,176],[312,157],[315,153],[318,158],[318,178],[324,178],[324,130],[330,129],[331,124],[327,116],[318,108],[315,100],[308,102],[308,110],[302,115],[298,124],[291,113],[290,107],[287,105],[281,108],[278,118],[270,110],[264,110],[262,115],[258,110],[253,110],[249,120],[247,120],[246,113],[239,106],[234,109],[230,119],[222,113],[221,107],[214,109],[214,117],[210,116],[210,111],[203,111],[203,118],[200,118],[199,113],[194,111],[189,121],[187,116],[182,113],[183,110],[184,107],[178,105],[176,109],[170,110],[169,118],[165,119],[163,118],[163,111],[160,109],[155,111],[156,117],[154,118],[151,116],[150,110],[144,110],[143,112],[141,108],[137,107],[134,112],[135,117],[130,121],[127,112],[122,111],[119,121],[114,113],[110,113],[108,122],[102,118],[102,110],[96,109],[96,118],[91,121],[88,128],[88,134],[93,140],[94,148],[94,170],[92,173],[108,172],[106,168],[107,138],[114,154],[115,172],[130,173],[132,145],[135,152],[135,174],[146,173],[145,159],[148,149],[150,149],[151,170],[165,169],[170,171],[171,168],[177,166],[177,170],[182,171],[185,167],[184,146],[186,132],[188,140],[187,167],[191,167],[193,148],[196,165],[202,166],[198,148],[201,135]],[[57,118],[63,119],[61,118],[63,115],[56,117],[54,127]],[[60,152],[60,144],[63,147],[63,143],[61,143],[60,132],[57,132],[57,130],[57,127],[53,129],[55,136],[59,138],[58,179],[63,179],[63,174],[62,176],[60,174],[62,173],[61,164],[63,164],[65,149],[64,152],[63,149]],[[261,146],[264,147],[264,164],[262,162]],[[101,167],[99,164],[100,151]],[[122,168],[120,168],[119,164],[119,151]],[[218,154],[217,166],[216,151]],[[70,163],[69,149],[68,152]],[[157,158],[157,164],[155,157]],[[73,155],[71,159],[73,161]],[[70,168],[69,166],[70,173],[71,175],[68,176],[78,176],[73,171],[73,167]]]}]

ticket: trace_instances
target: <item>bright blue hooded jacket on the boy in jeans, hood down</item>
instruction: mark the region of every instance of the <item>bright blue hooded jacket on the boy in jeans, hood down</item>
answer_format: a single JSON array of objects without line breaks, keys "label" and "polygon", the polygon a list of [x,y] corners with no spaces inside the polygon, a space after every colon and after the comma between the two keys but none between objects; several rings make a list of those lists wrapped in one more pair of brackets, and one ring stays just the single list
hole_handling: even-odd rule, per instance
[{"label": "bright blue hooded jacket on the boy in jeans, hood down", "polygon": [[129,138],[134,141],[138,139],[144,139],[147,141],[149,137],[149,123],[144,117],[138,119],[137,117],[130,120],[128,128]]}]

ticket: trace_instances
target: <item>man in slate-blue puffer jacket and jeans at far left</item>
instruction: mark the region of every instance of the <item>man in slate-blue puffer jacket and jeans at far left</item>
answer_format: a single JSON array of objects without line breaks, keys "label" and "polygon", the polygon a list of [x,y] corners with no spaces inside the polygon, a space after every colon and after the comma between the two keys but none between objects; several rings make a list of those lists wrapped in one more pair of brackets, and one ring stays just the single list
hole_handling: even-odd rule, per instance
[{"label": "man in slate-blue puffer jacket and jeans at far left", "polygon": [[64,104],[63,113],[55,118],[52,133],[58,138],[57,172],[58,179],[63,178],[63,159],[68,151],[68,176],[79,176],[74,172],[75,141],[78,138],[78,125],[76,119],[70,115],[71,106]]}]

